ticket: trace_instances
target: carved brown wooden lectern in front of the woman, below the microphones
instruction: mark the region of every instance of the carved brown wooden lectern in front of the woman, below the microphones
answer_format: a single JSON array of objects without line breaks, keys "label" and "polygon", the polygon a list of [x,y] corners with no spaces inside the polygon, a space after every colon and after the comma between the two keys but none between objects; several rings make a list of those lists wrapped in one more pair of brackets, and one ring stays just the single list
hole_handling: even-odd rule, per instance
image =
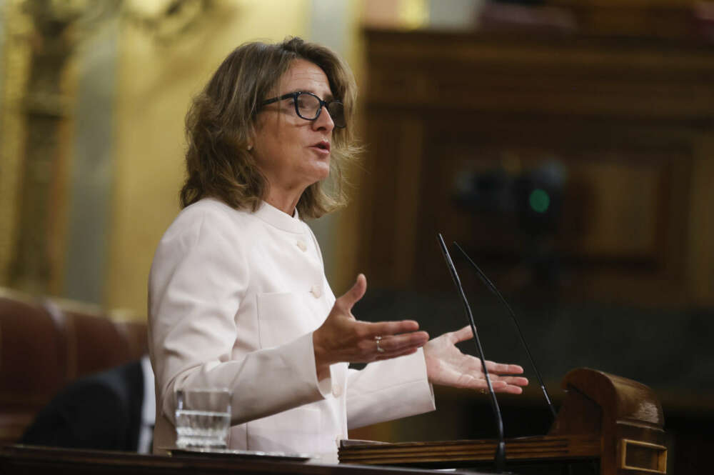
[{"label": "carved brown wooden lectern in front of the woman, below the microphones", "polygon": [[[667,473],[662,406],[651,389],[587,368],[570,371],[562,386],[567,395],[548,435],[506,439],[508,470],[548,473],[548,468],[570,466],[571,471],[580,467],[572,473]],[[488,468],[495,453],[493,439],[343,441],[339,449],[341,463],[430,468]]]}]

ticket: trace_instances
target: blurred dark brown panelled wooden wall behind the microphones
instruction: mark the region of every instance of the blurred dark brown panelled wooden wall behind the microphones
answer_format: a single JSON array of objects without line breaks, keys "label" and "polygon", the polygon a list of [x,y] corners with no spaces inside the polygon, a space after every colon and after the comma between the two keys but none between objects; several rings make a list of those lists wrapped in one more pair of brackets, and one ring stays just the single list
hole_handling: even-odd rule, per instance
[{"label": "blurred dark brown panelled wooden wall behind the microphones", "polygon": [[[358,260],[372,286],[450,285],[439,231],[506,290],[714,304],[714,47],[368,30],[366,64]],[[562,181],[550,218],[511,192],[538,169]]]}]

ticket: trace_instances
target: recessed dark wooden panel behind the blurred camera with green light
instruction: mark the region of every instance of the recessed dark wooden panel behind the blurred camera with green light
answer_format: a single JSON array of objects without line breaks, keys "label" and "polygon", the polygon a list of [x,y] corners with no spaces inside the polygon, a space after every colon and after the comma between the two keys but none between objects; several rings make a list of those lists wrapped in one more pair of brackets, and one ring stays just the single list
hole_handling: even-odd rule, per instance
[{"label": "recessed dark wooden panel behind the blurred camera with green light", "polygon": [[[428,206],[434,216],[433,231],[443,229],[452,239],[471,244],[477,251],[501,251],[520,254],[523,219],[519,214],[528,208],[528,196],[516,196],[513,181],[524,171],[552,164],[562,169],[562,219],[553,234],[564,253],[582,259],[620,259],[652,261],[657,264],[661,236],[660,213],[671,201],[672,169],[678,156],[648,154],[642,159],[637,151],[558,152],[548,149],[471,149],[460,151],[436,146],[446,157],[434,157],[426,171],[424,189],[443,191]],[[508,171],[508,167],[515,167]],[[455,204],[460,179],[476,180],[494,172],[503,175],[503,194],[511,201],[503,209],[493,206]],[[462,185],[463,186],[463,185]],[[537,185],[533,185],[537,188]],[[555,201],[553,196],[553,201]],[[555,205],[555,202],[553,202]],[[425,209],[424,211],[426,211]],[[587,216],[583,216],[587,214]],[[531,225],[532,227],[533,225]],[[545,226],[545,225],[544,225]],[[666,226],[665,226],[666,227]],[[488,232],[476,232],[477,229]],[[453,232],[450,232],[453,231]],[[498,239],[493,239],[493,234]],[[426,251],[426,249],[425,249]]]}]

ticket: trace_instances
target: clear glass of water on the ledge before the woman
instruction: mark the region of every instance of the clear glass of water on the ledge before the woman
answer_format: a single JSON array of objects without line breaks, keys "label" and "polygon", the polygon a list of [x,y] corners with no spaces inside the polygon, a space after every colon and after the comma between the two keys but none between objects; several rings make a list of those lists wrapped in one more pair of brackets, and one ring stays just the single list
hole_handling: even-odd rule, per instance
[{"label": "clear glass of water on the ledge before the woman", "polygon": [[227,388],[176,390],[176,446],[226,449],[231,428]]}]

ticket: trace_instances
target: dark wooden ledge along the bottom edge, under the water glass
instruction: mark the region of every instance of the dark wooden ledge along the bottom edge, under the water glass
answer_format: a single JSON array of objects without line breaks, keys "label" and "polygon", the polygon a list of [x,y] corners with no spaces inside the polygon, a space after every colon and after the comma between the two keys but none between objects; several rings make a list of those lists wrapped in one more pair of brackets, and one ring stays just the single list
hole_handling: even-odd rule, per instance
[{"label": "dark wooden ledge along the bottom edge, under the water glass", "polygon": [[[3,475],[195,475],[195,474],[307,474],[411,475],[438,474],[433,470],[383,466],[327,465],[296,461],[158,456],[126,452],[57,449],[9,445],[0,448]],[[461,473],[466,472],[450,472]],[[469,475],[478,475],[469,471]]]}]

